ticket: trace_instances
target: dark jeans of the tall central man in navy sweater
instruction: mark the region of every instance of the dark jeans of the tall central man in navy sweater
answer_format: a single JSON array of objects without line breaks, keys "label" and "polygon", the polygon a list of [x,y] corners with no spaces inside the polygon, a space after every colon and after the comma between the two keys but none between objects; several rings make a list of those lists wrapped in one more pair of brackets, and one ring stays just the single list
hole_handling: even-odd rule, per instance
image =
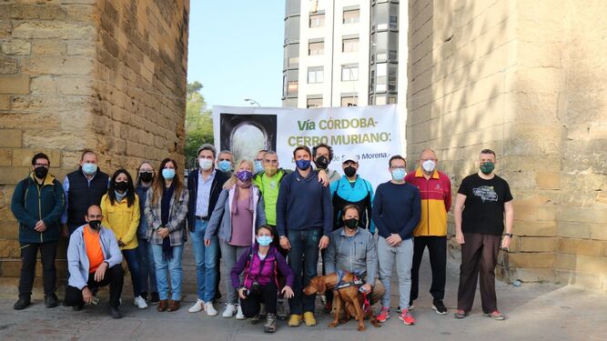
[{"label": "dark jeans of the tall central man in navy sweater", "polygon": [[302,290],[309,285],[310,279],[316,276],[319,263],[319,241],[322,229],[287,231],[291,250],[288,252],[288,265],[293,269],[295,281],[293,291],[295,296],[289,298],[288,306],[291,314],[301,315],[303,312],[314,312],[314,295],[303,295]]}]

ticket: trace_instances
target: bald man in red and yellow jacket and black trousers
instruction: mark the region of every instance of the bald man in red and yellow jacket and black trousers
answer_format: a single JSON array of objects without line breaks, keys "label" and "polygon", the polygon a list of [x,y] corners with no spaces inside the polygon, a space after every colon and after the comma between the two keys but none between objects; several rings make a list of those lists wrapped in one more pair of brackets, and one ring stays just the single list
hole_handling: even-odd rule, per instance
[{"label": "bald man in red and yellow jacket and black trousers", "polygon": [[432,269],[432,309],[437,314],[447,314],[442,303],[445,296],[447,267],[447,212],[451,206],[451,182],[449,176],[439,172],[436,153],[430,148],[421,151],[417,168],[405,176],[405,181],[420,189],[420,224],[413,231],[413,264],[411,266],[411,295],[409,308],[420,292],[420,265],[424,250],[428,247]]}]

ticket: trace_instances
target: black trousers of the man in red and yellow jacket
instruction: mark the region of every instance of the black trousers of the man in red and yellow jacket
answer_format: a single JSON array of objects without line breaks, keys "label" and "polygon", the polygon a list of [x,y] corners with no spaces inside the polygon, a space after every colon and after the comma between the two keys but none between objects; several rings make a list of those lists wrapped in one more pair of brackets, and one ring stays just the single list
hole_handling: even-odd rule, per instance
[{"label": "black trousers of the man in red and yellow jacket", "polygon": [[416,236],[413,238],[413,264],[411,266],[411,295],[414,301],[420,294],[420,265],[424,250],[428,247],[430,269],[432,270],[432,285],[430,295],[434,299],[445,297],[445,282],[447,271],[447,236]]}]

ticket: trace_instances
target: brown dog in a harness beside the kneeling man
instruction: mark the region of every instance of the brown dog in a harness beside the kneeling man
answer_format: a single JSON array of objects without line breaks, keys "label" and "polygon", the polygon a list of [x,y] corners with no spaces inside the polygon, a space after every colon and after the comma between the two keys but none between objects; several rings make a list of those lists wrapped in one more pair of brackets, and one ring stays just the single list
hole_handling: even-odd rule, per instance
[{"label": "brown dog in a harness beside the kneeling man", "polygon": [[[354,275],[346,272],[341,280],[344,283],[351,282],[354,280]],[[316,276],[309,281],[309,285],[304,288],[303,292],[306,295],[313,295],[316,293],[322,295],[325,293],[325,291],[327,291],[327,289],[332,289],[337,286],[338,281],[339,277],[336,273],[332,273],[327,276]],[[350,317],[354,317],[357,319],[357,321],[359,321],[359,331],[365,330],[365,323],[363,321],[364,317],[369,317],[373,326],[379,326],[378,321],[373,315],[373,310],[370,307],[366,313],[366,316],[363,316],[362,304],[364,298],[362,293],[359,292],[359,288],[357,286],[348,286],[337,289],[335,290],[335,294],[335,319],[333,322],[329,323],[329,327],[334,328],[338,326],[338,324],[344,324],[349,321]],[[346,311],[346,318],[339,320],[339,315],[342,308]]]}]

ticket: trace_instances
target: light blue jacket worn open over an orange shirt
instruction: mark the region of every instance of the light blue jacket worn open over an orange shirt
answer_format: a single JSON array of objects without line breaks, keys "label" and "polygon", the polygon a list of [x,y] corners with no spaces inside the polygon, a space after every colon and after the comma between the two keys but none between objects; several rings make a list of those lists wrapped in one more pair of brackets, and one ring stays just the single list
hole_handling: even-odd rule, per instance
[{"label": "light blue jacket worn open over an orange shirt", "polygon": [[[82,290],[88,283],[88,256],[86,256],[86,245],[84,229],[87,225],[76,228],[76,231],[69,237],[69,246],[67,246],[67,270],[69,271],[69,286],[77,287]],[[101,241],[101,251],[103,251],[104,260],[109,267],[122,263],[122,253],[114,232],[106,227],[99,230],[99,239]]]}]

